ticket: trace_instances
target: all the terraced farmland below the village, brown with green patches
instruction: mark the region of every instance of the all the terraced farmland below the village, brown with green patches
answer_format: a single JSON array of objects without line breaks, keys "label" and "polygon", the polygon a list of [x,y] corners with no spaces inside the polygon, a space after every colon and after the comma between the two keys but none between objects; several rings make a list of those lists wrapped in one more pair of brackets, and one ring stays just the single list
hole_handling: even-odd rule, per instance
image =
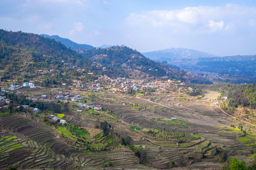
[{"label": "all the terraced farmland below the village, brown with green patches", "polygon": [[[178,93],[80,95],[102,110],[69,101],[68,111],[59,103],[61,113],[1,114],[0,167],[218,168],[227,154],[253,159],[253,130],[244,136],[237,120],[209,107],[207,100]],[[68,124],[52,123],[52,114]]]}]

